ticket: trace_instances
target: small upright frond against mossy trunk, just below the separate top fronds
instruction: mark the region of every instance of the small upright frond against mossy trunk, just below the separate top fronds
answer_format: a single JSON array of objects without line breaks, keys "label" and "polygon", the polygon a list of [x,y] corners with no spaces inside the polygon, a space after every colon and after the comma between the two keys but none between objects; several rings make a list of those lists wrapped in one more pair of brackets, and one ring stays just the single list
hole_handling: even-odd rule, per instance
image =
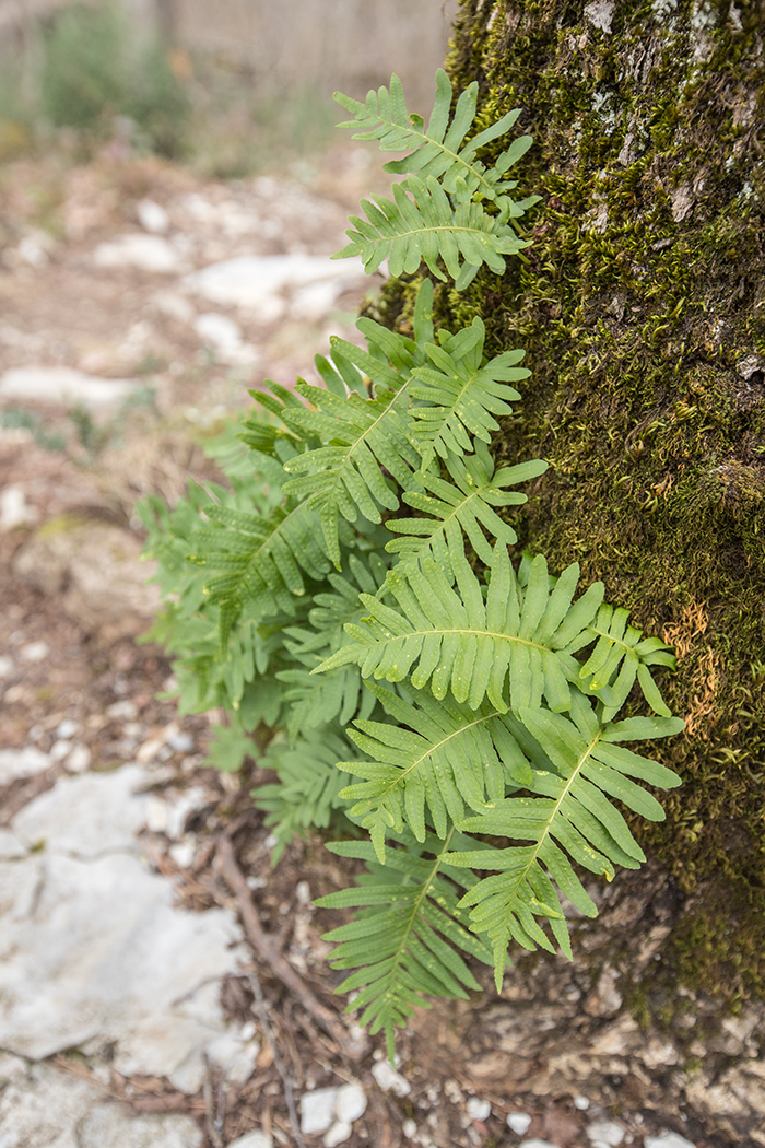
[{"label": "small upright frond against mossy trunk, just below the separate top fronds", "polygon": [[[483,363],[486,328],[479,318],[455,335],[438,332],[440,346],[426,347],[430,363],[415,367],[409,394],[413,406],[414,440],[426,463],[438,453],[462,455],[471,451],[473,440],[491,442],[499,430],[494,414],[512,414],[512,402],[521,398],[510,382],[526,379],[531,372],[517,364],[524,351],[505,351]],[[483,364],[483,365],[482,365]]]}]

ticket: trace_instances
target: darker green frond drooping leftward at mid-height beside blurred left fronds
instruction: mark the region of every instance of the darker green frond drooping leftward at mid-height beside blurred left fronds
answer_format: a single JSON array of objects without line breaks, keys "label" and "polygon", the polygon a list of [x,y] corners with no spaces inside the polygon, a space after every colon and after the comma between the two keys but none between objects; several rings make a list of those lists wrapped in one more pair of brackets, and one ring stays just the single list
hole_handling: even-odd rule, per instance
[{"label": "darker green frond drooping leftward at mid-height beside blurred left fronds", "polygon": [[198,529],[189,561],[205,571],[204,592],[220,605],[220,642],[228,635],[244,603],[261,613],[294,613],[295,598],[305,594],[305,579],[329,569],[321,546],[317,515],[306,505],[278,506],[268,518],[226,506],[205,506],[210,526]]}]

